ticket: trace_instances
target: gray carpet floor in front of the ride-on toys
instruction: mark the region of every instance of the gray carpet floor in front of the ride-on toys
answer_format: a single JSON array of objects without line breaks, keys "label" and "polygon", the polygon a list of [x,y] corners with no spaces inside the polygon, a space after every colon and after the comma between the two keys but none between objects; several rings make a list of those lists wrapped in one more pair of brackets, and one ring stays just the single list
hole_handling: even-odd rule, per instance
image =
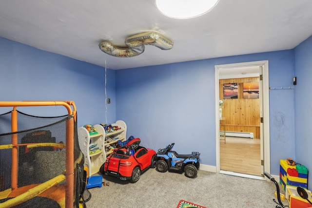
[{"label": "gray carpet floor in front of the ride-on toys", "polygon": [[[198,170],[196,178],[183,173],[149,169],[137,183],[103,176],[109,186],[89,189],[87,208],[176,208],[186,200],[207,208],[275,208],[271,181]],[[283,193],[283,189],[281,189]],[[287,201],[282,201],[288,205]]]}]

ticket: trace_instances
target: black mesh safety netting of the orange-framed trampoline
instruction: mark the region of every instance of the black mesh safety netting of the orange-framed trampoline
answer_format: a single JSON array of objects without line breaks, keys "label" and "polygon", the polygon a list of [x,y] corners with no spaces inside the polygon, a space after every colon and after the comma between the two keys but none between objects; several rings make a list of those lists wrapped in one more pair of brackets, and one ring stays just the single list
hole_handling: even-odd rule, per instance
[{"label": "black mesh safety netting of the orange-framed trampoline", "polygon": [[[11,116],[11,112],[0,115],[0,192],[12,188],[12,178],[17,178],[17,188],[9,192],[6,198],[0,198],[0,207],[1,203],[10,198],[14,199],[28,189],[42,185],[59,175],[66,177],[65,146],[68,132],[73,132],[74,135],[71,138],[74,140],[74,162],[76,162],[74,164],[74,190],[66,189],[66,179],[60,180],[50,189],[24,202],[23,207],[28,207],[28,205],[32,208],[36,205],[40,208],[53,208],[60,205],[64,207],[62,204],[65,205],[66,191],[73,194],[75,200],[73,206],[78,207],[79,194],[85,189],[85,184],[82,182],[85,179],[81,173],[83,156],[78,145],[77,120],[74,121],[73,115],[38,117],[18,112],[19,131],[10,132]],[[74,122],[74,125],[66,125],[68,122]],[[12,157],[12,147],[9,147],[14,138],[18,141],[17,161]],[[40,143],[44,144],[39,145]],[[12,175],[13,160],[17,164],[17,173],[13,171]],[[13,186],[14,184],[16,184],[15,180],[13,180]]]}]

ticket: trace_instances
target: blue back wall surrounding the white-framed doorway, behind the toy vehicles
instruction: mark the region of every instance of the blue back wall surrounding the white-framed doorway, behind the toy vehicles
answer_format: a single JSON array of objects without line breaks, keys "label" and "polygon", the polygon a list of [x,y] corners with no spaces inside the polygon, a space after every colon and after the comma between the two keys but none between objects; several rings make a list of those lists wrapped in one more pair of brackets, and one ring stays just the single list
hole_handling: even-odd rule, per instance
[{"label": "blue back wall surrounding the white-framed doorway, behind the toy vehicles", "polygon": [[293,50],[118,70],[116,117],[143,146],[175,142],[215,166],[215,65],[259,60],[269,60],[270,87],[283,88],[270,90],[271,173],[279,175],[279,160],[294,156]]}]

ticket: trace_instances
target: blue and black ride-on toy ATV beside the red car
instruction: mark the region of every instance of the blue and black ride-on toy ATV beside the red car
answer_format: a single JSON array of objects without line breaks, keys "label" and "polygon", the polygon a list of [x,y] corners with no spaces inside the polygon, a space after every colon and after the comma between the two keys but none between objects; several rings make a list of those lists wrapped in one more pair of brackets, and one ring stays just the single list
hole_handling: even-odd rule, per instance
[{"label": "blue and black ride-on toy ATV beside the red car", "polygon": [[199,169],[199,152],[193,151],[192,154],[178,154],[171,151],[175,143],[168,145],[164,149],[159,149],[156,157],[156,170],[166,172],[167,170],[185,172],[185,176],[195,178]]}]

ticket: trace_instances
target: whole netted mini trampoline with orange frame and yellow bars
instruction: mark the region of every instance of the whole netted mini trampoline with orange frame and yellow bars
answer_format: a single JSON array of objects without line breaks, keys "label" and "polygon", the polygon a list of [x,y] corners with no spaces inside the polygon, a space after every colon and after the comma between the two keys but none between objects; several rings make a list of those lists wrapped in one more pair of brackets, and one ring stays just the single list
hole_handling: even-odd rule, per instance
[{"label": "whole netted mini trampoline with orange frame and yellow bars", "polygon": [[[64,107],[68,114],[40,117],[19,111],[43,106]],[[91,195],[85,194],[75,103],[0,101],[0,107],[13,108],[0,114],[0,207],[85,207]]]}]

